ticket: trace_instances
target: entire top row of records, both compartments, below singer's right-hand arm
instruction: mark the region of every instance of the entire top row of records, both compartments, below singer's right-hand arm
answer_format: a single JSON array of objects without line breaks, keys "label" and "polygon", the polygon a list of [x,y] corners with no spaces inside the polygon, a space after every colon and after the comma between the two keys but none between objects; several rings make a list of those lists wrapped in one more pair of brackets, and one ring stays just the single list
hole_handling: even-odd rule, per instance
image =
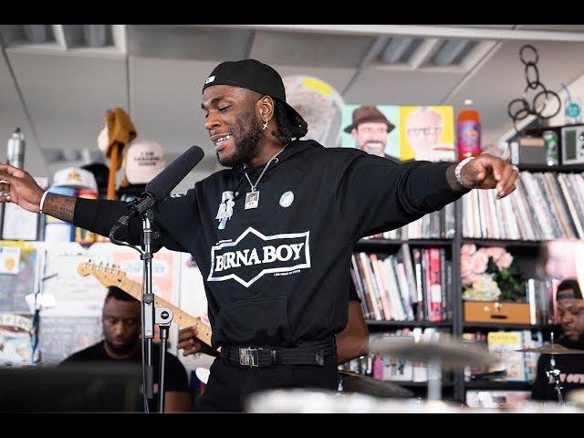
[{"label": "entire top row of records, both compartments, below singer's right-hand arm", "polygon": [[[473,190],[463,196],[465,240],[537,246],[554,238],[584,238],[584,168],[527,169],[519,172],[516,191],[501,200],[495,190]],[[432,245],[435,240],[435,245],[444,246],[451,244],[454,230],[451,203],[401,228],[365,237],[358,245]]]}]

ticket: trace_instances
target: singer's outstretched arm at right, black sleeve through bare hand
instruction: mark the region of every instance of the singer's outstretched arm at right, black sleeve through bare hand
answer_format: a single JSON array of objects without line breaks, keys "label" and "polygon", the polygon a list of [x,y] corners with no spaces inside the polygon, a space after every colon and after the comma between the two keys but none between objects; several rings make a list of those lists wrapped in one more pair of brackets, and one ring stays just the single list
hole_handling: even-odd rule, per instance
[{"label": "singer's outstretched arm at right, black sleeve through bare hand", "polygon": [[349,242],[409,224],[472,188],[496,188],[499,198],[515,190],[514,167],[488,154],[465,162],[456,178],[458,162],[395,163],[359,152],[337,166],[339,224]]}]

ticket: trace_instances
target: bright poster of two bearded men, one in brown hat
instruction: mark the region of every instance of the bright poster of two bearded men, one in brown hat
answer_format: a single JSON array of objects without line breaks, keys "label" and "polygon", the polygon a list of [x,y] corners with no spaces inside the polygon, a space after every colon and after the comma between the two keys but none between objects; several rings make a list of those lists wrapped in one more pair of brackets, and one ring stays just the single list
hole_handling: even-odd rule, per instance
[{"label": "bright poster of two bearded men, one in brown hat", "polygon": [[453,162],[451,106],[345,105],[341,146],[401,161]]}]

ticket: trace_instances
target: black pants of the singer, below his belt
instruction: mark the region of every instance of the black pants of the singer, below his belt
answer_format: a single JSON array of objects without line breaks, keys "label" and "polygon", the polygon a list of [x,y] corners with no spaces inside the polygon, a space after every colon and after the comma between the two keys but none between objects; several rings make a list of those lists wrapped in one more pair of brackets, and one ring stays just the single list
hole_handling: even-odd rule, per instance
[{"label": "black pants of the singer, below his belt", "polygon": [[323,366],[278,365],[244,367],[224,358],[216,358],[203,395],[195,412],[245,412],[245,401],[255,391],[278,388],[318,388],[336,390],[337,355],[325,358]]}]

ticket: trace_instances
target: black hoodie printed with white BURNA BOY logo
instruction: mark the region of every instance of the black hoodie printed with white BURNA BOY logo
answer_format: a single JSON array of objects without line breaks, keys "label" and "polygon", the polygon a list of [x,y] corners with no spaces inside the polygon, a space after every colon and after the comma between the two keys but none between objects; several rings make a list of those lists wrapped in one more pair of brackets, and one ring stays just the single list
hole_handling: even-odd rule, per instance
[{"label": "black hoodie printed with white BURNA BOY logo", "polygon": [[[244,208],[250,184],[236,167],[166,198],[154,220],[160,244],[191,253],[201,269],[214,347],[294,346],[347,325],[350,255],[361,237],[408,224],[465,193],[446,181],[451,164],[400,164],[293,141],[258,183],[257,208]],[[262,169],[247,170],[252,183]],[[233,215],[219,229],[215,217],[229,193]],[[79,198],[73,223],[108,235],[125,208]],[[122,237],[141,242],[140,218]]]}]

